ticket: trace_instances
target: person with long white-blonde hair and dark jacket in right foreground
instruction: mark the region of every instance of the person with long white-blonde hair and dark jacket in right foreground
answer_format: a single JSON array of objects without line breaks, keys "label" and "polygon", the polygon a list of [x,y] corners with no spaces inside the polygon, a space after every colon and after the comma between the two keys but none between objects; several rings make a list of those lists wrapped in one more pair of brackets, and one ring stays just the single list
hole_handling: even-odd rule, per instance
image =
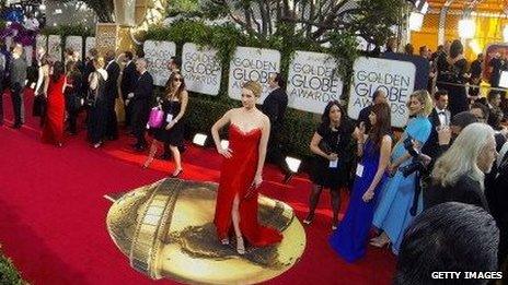
[{"label": "person with long white-blonde hair and dark jacket in right foreground", "polygon": [[461,202],[488,211],[484,179],[485,174],[490,173],[496,157],[493,128],[481,122],[465,127],[437,161],[425,207],[444,202]]}]

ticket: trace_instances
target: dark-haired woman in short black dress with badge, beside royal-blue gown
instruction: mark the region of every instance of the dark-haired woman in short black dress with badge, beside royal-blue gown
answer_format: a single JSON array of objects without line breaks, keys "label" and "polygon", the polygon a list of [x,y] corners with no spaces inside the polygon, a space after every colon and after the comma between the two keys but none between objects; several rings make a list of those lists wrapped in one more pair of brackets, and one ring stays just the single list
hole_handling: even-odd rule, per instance
[{"label": "dark-haired woman in short black dress with badge, beside royal-blue gown", "polygon": [[348,181],[344,158],[347,155],[347,146],[351,142],[353,127],[337,100],[326,105],[321,123],[310,143],[311,152],[315,157],[311,169],[313,186],[309,198],[309,214],[303,219],[305,225],[310,225],[314,219],[315,207],[323,188],[330,188],[333,210],[332,229],[337,228],[340,188]]}]

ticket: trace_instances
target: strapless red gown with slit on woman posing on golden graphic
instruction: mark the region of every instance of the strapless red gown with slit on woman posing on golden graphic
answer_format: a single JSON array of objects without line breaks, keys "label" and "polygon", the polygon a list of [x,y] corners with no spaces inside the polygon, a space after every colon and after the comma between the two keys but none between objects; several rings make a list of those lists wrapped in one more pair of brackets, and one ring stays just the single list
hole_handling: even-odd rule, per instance
[{"label": "strapless red gown with slit on woman posing on golden graphic", "polygon": [[282,239],[282,235],[274,228],[259,225],[257,191],[249,199],[244,198],[256,174],[261,134],[261,129],[243,133],[239,127],[230,124],[229,149],[232,157],[224,158],[222,163],[213,219],[219,240],[233,233],[231,210],[236,194],[240,198],[240,228],[252,246],[268,246]]}]

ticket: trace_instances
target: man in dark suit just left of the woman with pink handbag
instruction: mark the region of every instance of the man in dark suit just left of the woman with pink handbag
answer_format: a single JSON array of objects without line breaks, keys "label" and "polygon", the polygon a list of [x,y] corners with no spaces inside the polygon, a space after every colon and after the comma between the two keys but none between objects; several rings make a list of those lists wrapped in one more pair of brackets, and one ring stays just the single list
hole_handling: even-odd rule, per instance
[{"label": "man in dark suit just left of the woman with pink handbag", "polygon": [[135,83],[134,92],[127,95],[126,103],[132,108],[132,131],[137,139],[132,146],[140,152],[147,149],[145,129],[150,114],[150,102],[153,97],[153,78],[147,71],[146,59],[136,60],[136,70],[140,75]]}]

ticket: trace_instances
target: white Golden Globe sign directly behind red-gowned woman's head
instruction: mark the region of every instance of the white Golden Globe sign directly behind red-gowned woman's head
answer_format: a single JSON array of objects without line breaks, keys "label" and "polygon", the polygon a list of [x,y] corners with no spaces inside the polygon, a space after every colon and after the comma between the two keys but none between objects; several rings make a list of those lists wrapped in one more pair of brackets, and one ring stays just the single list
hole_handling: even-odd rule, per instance
[{"label": "white Golden Globe sign directly behind red-gowned woman's head", "polygon": [[246,81],[257,81],[263,85],[263,94],[257,102],[262,104],[270,92],[269,75],[280,70],[280,52],[275,49],[238,47],[229,67],[229,96],[240,99],[242,84]]}]

